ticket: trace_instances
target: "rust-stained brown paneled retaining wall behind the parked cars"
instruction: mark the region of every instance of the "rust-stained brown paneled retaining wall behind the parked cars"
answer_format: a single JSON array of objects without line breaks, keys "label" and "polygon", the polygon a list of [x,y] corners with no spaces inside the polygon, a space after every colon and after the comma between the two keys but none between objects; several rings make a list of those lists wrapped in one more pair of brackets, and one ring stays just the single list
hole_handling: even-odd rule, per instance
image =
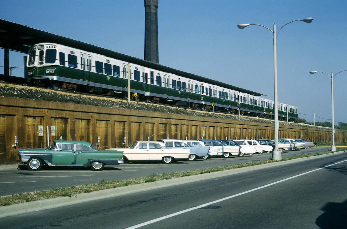
[{"label": "rust-stained brown paneled retaining wall behind the parked cars", "polygon": [[[43,126],[43,136],[38,128]],[[48,131],[47,131],[47,126]],[[52,136],[52,126],[55,136]],[[336,142],[346,132],[335,131]],[[53,139],[98,143],[99,149],[124,147],[136,140],[178,139],[273,139],[273,124],[206,118],[150,111],[136,111],[0,96],[0,163],[18,159],[18,148],[46,147]],[[17,149],[12,148],[17,136]],[[331,142],[331,129],[280,125],[279,137],[310,138]]]}]

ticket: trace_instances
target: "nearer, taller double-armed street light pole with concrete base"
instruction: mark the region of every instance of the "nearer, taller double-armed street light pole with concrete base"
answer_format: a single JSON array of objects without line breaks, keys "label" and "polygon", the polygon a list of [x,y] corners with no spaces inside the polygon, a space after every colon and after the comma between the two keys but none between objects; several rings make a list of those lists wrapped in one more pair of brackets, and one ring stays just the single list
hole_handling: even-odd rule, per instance
[{"label": "nearer, taller double-armed street light pole with concrete base", "polygon": [[282,160],[281,152],[278,150],[278,129],[279,129],[279,123],[278,123],[278,101],[277,101],[277,45],[276,45],[276,33],[278,33],[284,26],[288,25],[289,23],[295,22],[295,21],[302,21],[306,23],[311,23],[313,20],[312,17],[307,17],[303,19],[297,19],[291,22],[288,22],[287,24],[282,25],[277,31],[276,31],[276,24],[273,24],[273,30],[269,29],[266,26],[260,25],[260,24],[238,24],[237,27],[239,29],[244,29],[245,27],[249,25],[258,25],[261,27],[264,27],[266,29],[269,29],[273,33],[273,84],[274,84],[274,137],[275,137],[275,149],[272,151],[272,160],[279,161]]}]

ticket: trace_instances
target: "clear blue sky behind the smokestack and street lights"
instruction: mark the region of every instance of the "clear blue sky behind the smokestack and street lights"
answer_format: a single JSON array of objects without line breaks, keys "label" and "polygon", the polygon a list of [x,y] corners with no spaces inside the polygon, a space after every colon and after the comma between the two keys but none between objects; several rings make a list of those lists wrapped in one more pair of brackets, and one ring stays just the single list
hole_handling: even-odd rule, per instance
[{"label": "clear blue sky behind the smokestack and street lights", "polygon": [[[5,1],[0,18],[144,58],[144,1]],[[346,1],[159,0],[159,63],[273,100],[272,29],[295,19],[277,35],[278,101],[298,107],[299,117],[331,121],[330,77],[347,70]],[[10,52],[10,66],[23,67]],[[0,49],[0,66],[3,50]],[[12,75],[23,76],[23,69]],[[3,73],[3,67],[0,67]],[[347,122],[347,71],[334,77],[335,124]],[[308,115],[305,115],[308,114]],[[319,118],[321,117],[321,118]],[[322,119],[323,118],[323,119]]]}]

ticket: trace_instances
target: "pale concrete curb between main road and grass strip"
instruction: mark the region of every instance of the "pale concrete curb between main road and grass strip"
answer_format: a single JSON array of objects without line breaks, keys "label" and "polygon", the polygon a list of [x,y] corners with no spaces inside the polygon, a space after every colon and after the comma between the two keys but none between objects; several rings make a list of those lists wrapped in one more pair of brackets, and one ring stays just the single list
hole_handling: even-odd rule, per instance
[{"label": "pale concrete curb between main road and grass strip", "polygon": [[54,207],[67,206],[67,205],[71,205],[71,204],[100,200],[103,198],[110,198],[110,197],[115,197],[115,196],[131,194],[131,193],[143,192],[143,191],[156,189],[156,188],[180,185],[180,184],[185,184],[185,183],[204,180],[204,179],[229,176],[229,175],[236,174],[236,173],[252,171],[252,170],[262,169],[262,168],[268,168],[268,167],[273,167],[273,166],[280,166],[282,164],[290,164],[290,163],[295,163],[298,161],[315,159],[315,158],[318,158],[321,156],[340,154],[343,152],[344,151],[339,151],[339,152],[334,152],[334,153],[321,154],[318,156],[310,156],[310,157],[306,157],[306,158],[297,158],[297,159],[292,159],[292,160],[288,160],[288,161],[278,161],[278,162],[272,162],[272,163],[261,164],[261,165],[256,165],[256,166],[249,166],[249,167],[230,169],[230,170],[224,170],[224,171],[218,171],[218,172],[198,174],[198,175],[189,176],[189,177],[178,177],[178,178],[174,178],[174,179],[170,179],[170,180],[159,180],[159,181],[155,181],[155,182],[151,182],[151,183],[129,185],[129,186],[119,187],[119,188],[110,188],[110,189],[99,190],[99,191],[90,192],[90,193],[76,194],[76,195],[73,195],[71,197],[57,197],[57,198],[46,199],[46,200],[13,204],[13,205],[9,205],[9,206],[0,206],[0,218],[10,216],[10,215],[23,214],[25,212],[41,211],[41,210],[45,210],[45,209],[51,209]]}]

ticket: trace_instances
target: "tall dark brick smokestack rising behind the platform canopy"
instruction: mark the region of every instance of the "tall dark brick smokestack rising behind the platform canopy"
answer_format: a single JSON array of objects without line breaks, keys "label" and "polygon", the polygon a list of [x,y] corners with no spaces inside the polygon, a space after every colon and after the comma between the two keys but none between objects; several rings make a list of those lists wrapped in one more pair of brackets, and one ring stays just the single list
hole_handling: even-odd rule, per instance
[{"label": "tall dark brick smokestack rising behind the platform canopy", "polygon": [[158,0],[145,1],[145,60],[159,63]]}]

